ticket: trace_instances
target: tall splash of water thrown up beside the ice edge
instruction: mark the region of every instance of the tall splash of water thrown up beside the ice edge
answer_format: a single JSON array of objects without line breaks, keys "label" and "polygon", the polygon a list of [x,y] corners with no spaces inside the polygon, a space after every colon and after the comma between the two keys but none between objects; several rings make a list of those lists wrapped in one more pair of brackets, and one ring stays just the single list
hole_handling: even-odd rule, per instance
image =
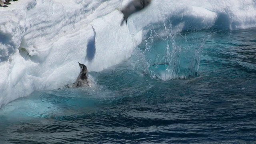
[{"label": "tall splash of water thrown up beside the ice edge", "polygon": [[210,38],[205,32],[183,33],[173,30],[171,23],[154,25],[139,49],[148,63],[153,78],[187,79],[198,76],[200,55]]}]

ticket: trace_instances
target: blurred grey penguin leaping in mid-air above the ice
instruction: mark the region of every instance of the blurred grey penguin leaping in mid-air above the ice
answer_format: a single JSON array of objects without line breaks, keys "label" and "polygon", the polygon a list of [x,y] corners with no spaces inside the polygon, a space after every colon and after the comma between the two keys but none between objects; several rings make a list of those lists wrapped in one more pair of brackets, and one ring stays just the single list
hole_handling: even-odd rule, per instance
[{"label": "blurred grey penguin leaping in mid-air above the ice", "polygon": [[127,19],[131,14],[134,14],[136,12],[139,12],[140,10],[143,10],[151,3],[151,0],[132,0],[126,7],[121,9],[121,12],[123,13],[124,17],[121,22],[121,26],[123,25],[124,21],[127,24]]}]

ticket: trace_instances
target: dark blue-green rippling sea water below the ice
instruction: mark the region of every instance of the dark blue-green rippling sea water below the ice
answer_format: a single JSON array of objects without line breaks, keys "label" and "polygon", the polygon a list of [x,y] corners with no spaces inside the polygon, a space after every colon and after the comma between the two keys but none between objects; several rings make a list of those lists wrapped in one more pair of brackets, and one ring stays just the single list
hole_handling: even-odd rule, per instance
[{"label": "dark blue-green rippling sea water below the ice", "polygon": [[1,108],[1,144],[255,144],[256,29],[159,33],[91,88]]}]

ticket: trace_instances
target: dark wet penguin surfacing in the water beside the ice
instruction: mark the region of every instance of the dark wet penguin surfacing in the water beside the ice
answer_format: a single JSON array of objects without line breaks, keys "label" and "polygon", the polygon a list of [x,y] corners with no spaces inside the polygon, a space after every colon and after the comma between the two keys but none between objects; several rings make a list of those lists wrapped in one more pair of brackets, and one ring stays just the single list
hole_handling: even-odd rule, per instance
[{"label": "dark wet penguin surfacing in the water beside the ice", "polygon": [[67,84],[64,87],[78,88],[78,87],[82,87],[82,86],[89,86],[88,77],[87,77],[87,72],[88,72],[87,67],[86,67],[86,65],[80,64],[79,62],[78,62],[78,64],[80,66],[80,74],[76,78],[76,82],[74,82],[71,85]]}]

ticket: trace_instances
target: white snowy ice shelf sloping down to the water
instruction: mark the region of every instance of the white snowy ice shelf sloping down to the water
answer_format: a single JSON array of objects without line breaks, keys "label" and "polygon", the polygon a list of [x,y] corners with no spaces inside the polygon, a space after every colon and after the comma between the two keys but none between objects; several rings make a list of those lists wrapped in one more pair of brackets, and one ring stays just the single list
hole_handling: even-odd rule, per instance
[{"label": "white snowy ice shelf sloping down to the water", "polygon": [[[255,0],[152,0],[121,27],[116,8],[128,2],[19,0],[0,8],[0,107],[73,81],[78,62],[99,72],[128,59],[154,23],[168,20],[176,31],[256,27]],[[94,36],[96,50],[89,62],[86,46]]]}]

